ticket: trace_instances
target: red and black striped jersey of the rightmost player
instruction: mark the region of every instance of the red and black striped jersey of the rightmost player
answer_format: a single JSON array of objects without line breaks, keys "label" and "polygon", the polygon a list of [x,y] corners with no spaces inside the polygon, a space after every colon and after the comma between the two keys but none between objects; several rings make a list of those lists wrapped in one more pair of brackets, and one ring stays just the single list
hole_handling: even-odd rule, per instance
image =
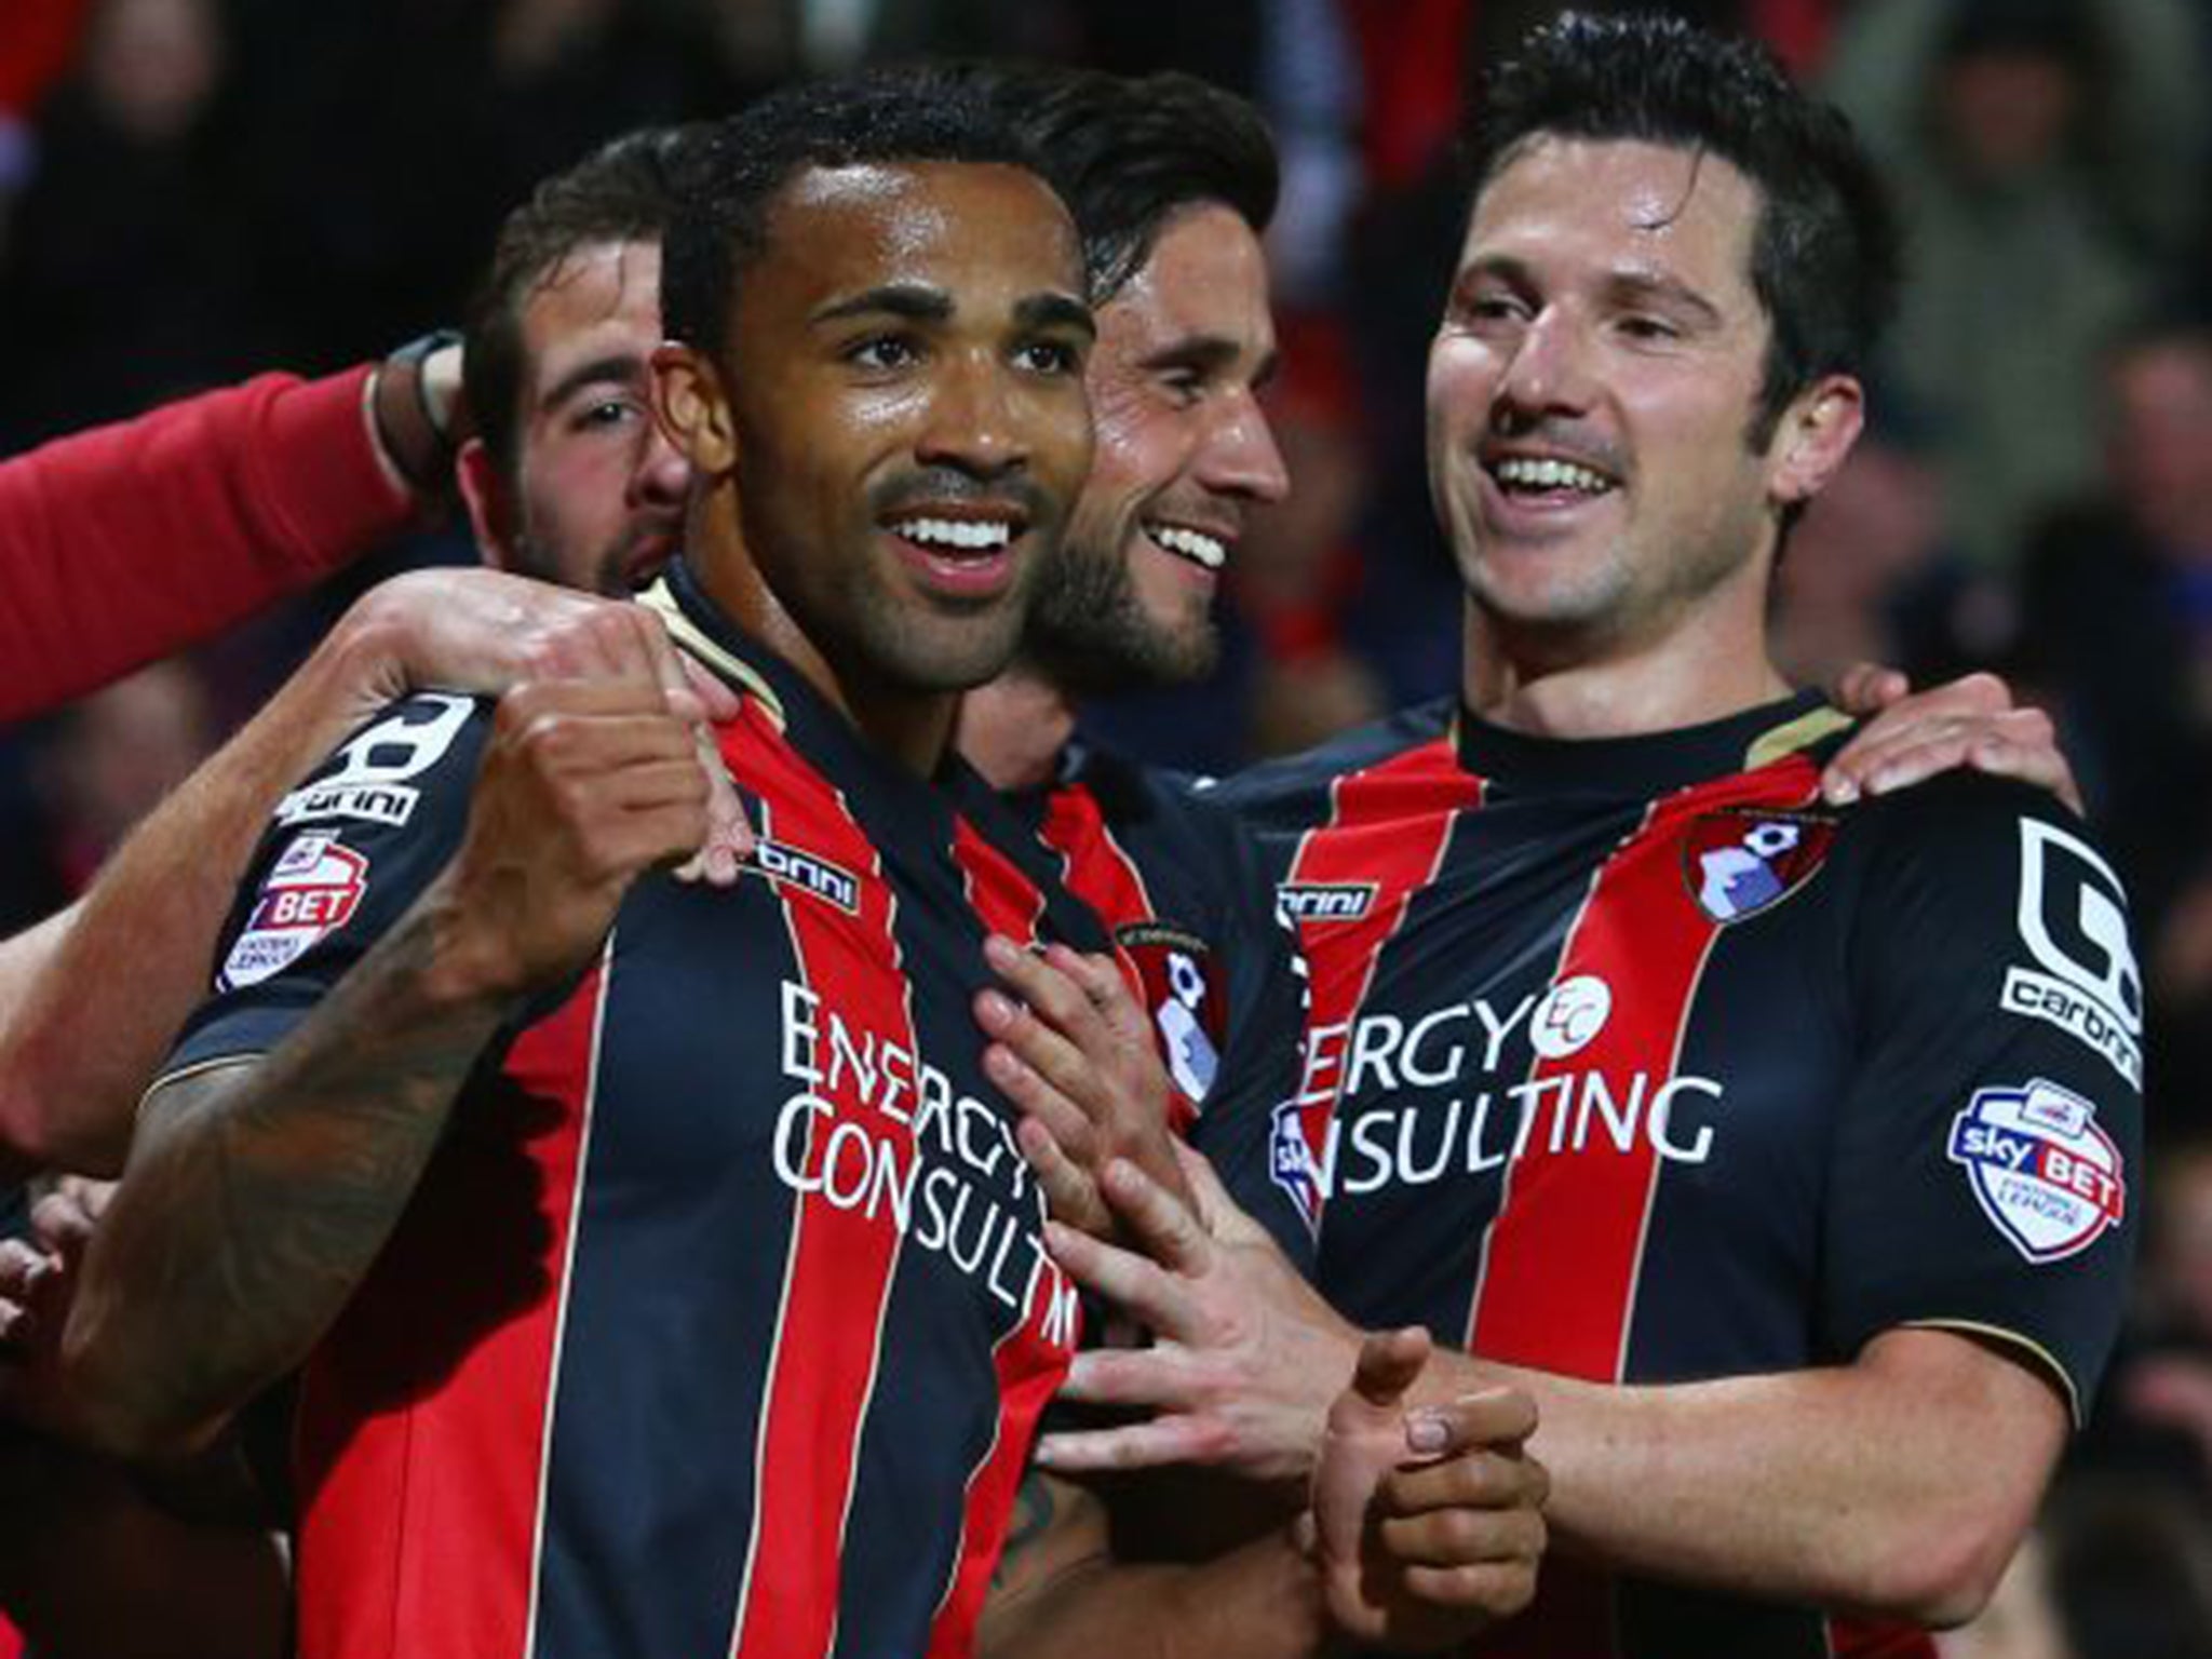
[{"label": "red and black striped jersey of the rightmost player", "polygon": [[[2079,1418],[2132,1252],[2126,898],[2033,790],[1818,796],[1843,717],[1542,741],[1451,708],[1219,790],[1312,967],[1276,1181],[1369,1327],[1601,1383],[1849,1363],[1931,1325]],[[1544,1564],[1484,1652],[1931,1652]]]}]

